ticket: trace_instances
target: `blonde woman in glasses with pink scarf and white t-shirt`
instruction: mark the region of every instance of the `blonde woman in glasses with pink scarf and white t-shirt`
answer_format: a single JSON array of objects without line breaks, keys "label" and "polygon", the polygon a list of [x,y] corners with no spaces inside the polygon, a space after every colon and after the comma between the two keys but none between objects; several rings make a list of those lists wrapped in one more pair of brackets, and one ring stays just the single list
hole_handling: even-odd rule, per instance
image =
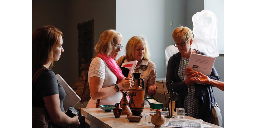
[{"label": "blonde woman in glasses with pink scarf and white t-shirt", "polygon": [[104,104],[115,105],[123,97],[120,90],[133,86],[132,76],[124,77],[114,60],[123,47],[122,41],[122,35],[115,30],[106,30],[100,35],[95,46],[98,55],[92,59],[88,71],[91,99],[86,108]]}]

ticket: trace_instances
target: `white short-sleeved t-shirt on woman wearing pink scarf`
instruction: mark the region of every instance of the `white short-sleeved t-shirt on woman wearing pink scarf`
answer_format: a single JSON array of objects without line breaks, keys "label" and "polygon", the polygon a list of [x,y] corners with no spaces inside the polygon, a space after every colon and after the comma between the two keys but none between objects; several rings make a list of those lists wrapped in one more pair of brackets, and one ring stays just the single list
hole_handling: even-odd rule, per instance
[{"label": "white short-sleeved t-shirt on woman wearing pink scarf", "polygon": [[[92,59],[92,62],[90,64],[89,71],[88,71],[88,82],[89,83],[90,83],[90,78],[93,76],[97,76],[99,78],[104,79],[103,86],[102,86],[103,88],[106,88],[109,86],[114,86],[117,81],[116,75],[110,70],[110,68],[105,63],[105,61],[99,57]],[[115,105],[116,103],[120,103],[122,97],[123,97],[123,95],[120,91],[116,92],[106,99],[100,99],[99,105],[105,105],[105,104]],[[89,100],[86,108],[95,108],[96,102],[97,102],[97,100],[93,100],[91,98]]]}]

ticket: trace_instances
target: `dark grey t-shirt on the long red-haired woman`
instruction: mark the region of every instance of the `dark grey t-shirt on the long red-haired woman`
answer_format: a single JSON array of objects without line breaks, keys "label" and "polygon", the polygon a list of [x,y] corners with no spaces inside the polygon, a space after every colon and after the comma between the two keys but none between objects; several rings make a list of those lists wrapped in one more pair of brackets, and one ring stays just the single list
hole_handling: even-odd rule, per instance
[{"label": "dark grey t-shirt on the long red-haired woman", "polygon": [[[40,67],[45,68],[45,67]],[[34,73],[33,73],[34,75]],[[64,111],[63,100],[66,93],[62,85],[58,82],[55,73],[51,69],[45,69],[41,72],[34,85],[32,85],[32,105],[36,107],[44,107],[43,97],[59,94],[60,108]]]}]

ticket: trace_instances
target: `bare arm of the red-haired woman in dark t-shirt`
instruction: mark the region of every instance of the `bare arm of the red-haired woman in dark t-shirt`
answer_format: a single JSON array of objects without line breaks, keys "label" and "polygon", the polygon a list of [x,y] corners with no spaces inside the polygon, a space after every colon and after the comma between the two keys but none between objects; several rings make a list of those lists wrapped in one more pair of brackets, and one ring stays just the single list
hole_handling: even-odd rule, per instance
[{"label": "bare arm of the red-haired woman in dark t-shirt", "polygon": [[53,124],[56,124],[58,126],[69,125],[71,127],[77,127],[78,125],[80,125],[78,116],[70,118],[61,111],[59,94],[43,97],[43,100],[47,113]]}]

